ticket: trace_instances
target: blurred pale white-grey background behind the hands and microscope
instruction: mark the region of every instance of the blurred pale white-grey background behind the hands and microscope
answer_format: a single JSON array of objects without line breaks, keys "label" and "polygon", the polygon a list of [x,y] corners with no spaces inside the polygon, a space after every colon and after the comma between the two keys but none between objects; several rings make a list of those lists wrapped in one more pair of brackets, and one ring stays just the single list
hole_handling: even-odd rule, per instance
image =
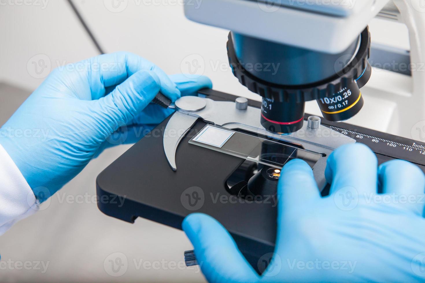
[{"label": "blurred pale white-grey background behind the hands and microscope", "polygon": [[[37,60],[45,59],[47,66],[53,69],[57,65],[97,55],[96,48],[68,3],[65,0],[44,1],[47,1],[44,2],[46,6],[41,0],[28,6],[18,5],[17,0],[0,1],[0,81],[28,91],[34,90],[42,81],[42,78],[37,78],[31,64],[34,56]],[[113,9],[107,8],[111,0],[75,2],[106,52],[127,50],[137,53],[169,74],[180,73],[181,64],[187,56],[200,56],[204,62],[204,74],[210,76],[216,90],[259,99],[241,86],[227,67],[225,43],[228,31],[190,22],[184,17],[181,5],[171,5],[175,2],[167,0],[124,0],[127,6],[122,11],[113,12],[110,11]],[[374,20],[371,33],[375,42],[390,42],[402,48],[409,46],[403,25]],[[218,70],[215,70],[217,67]],[[224,69],[221,70],[221,67]],[[374,89],[385,87],[408,91],[409,78],[384,71],[374,73],[368,87],[363,90],[365,107],[351,123],[381,131],[389,129],[397,134],[397,128],[389,127],[394,122],[390,114],[397,110],[397,105],[372,93]],[[10,107],[6,101],[5,96],[0,96],[0,113],[2,107]],[[315,102],[307,104],[306,112],[318,114]],[[382,118],[371,119],[377,115]],[[0,124],[7,118],[0,115]],[[204,280],[196,268],[137,266],[141,260],[150,263],[166,261],[165,265],[173,262],[181,264],[182,252],[191,249],[190,242],[181,231],[144,219],[128,224],[103,215],[93,203],[61,201],[67,195],[84,195],[86,192],[90,196],[95,195],[97,174],[128,147],[118,146],[105,151],[66,185],[59,197],[52,197],[45,210],[20,221],[0,238],[1,261],[49,261],[44,274],[40,270],[1,270],[1,281]],[[121,277],[111,277],[104,268],[105,259],[115,252],[123,253],[128,260],[127,272]]]}]

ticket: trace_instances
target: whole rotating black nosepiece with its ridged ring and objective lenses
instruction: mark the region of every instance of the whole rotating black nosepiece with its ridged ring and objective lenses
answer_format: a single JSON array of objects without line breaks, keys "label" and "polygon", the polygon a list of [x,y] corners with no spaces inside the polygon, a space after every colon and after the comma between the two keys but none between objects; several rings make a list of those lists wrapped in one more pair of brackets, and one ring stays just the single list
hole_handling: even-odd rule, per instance
[{"label": "whole rotating black nosepiece with its ridged ring and objective lenses", "polygon": [[370,78],[370,34],[337,54],[229,33],[227,54],[233,74],[262,96],[261,124],[270,132],[302,128],[305,101],[317,100],[326,120],[342,121],[363,106],[360,92]]}]

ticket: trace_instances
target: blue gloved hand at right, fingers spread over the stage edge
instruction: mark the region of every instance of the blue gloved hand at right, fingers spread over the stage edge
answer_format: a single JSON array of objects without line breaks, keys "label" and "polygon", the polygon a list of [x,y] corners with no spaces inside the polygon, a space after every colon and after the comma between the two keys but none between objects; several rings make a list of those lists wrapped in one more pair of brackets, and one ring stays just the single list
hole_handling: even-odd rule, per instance
[{"label": "blue gloved hand at right, fingers spread over the stage edge", "polygon": [[[210,282],[350,282],[425,280],[425,177],[411,163],[377,166],[362,144],[334,151],[321,197],[302,160],[283,167],[278,234],[269,268],[258,276],[224,227],[210,216],[187,216],[183,229]],[[377,193],[378,187],[382,193]]]}]

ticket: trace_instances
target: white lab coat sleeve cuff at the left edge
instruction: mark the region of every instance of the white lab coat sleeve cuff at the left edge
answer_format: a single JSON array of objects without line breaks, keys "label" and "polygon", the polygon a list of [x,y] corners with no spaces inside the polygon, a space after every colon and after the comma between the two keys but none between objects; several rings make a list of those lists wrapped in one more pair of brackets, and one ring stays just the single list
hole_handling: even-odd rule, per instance
[{"label": "white lab coat sleeve cuff at the left edge", "polygon": [[25,178],[0,145],[0,235],[36,212],[39,205]]}]

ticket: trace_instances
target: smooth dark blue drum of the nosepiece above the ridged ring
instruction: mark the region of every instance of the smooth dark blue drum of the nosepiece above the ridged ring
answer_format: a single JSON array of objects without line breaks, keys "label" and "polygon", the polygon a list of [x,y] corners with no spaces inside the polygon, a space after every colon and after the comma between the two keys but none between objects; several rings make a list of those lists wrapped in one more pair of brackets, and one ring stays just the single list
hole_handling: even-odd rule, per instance
[{"label": "smooth dark blue drum of the nosepiece above the ridged ring", "polygon": [[[325,80],[343,69],[358,39],[340,53],[324,53],[231,32],[235,55],[256,78],[273,84],[299,86]],[[349,56],[348,56],[349,57]],[[338,66],[338,67],[336,67]]]}]

